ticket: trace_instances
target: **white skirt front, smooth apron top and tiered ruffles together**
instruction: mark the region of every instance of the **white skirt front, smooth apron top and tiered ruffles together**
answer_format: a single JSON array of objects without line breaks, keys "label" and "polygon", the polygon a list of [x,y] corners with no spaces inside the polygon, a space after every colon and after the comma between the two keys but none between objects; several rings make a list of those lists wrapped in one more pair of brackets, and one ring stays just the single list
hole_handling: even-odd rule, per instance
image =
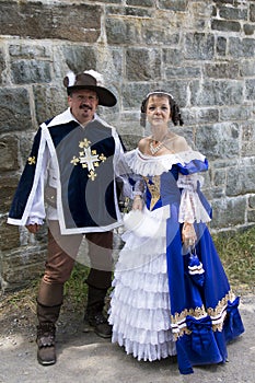
[{"label": "white skirt front, smooth apron top and tiered ruffles together", "polygon": [[154,230],[154,235],[150,230],[147,236],[140,228],[139,235],[127,231],[123,236],[125,246],[115,268],[108,317],[113,325],[112,341],[144,361],[176,355],[171,330],[165,236],[162,235],[165,220],[162,211],[157,214],[159,230]]}]

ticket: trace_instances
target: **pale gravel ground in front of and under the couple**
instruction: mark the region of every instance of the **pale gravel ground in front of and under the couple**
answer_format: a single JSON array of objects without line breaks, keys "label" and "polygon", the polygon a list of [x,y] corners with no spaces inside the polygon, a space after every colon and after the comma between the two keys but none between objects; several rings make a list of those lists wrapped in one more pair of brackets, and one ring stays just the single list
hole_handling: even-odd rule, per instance
[{"label": "pale gravel ground in front of and under the couple", "polygon": [[0,297],[0,383],[244,383],[255,374],[255,295],[241,298],[241,315],[245,334],[230,344],[229,362],[197,367],[194,374],[181,375],[175,359],[138,362],[109,339],[83,333],[81,310],[65,303],[57,327],[55,365],[42,367],[36,360],[34,298],[16,300]]}]

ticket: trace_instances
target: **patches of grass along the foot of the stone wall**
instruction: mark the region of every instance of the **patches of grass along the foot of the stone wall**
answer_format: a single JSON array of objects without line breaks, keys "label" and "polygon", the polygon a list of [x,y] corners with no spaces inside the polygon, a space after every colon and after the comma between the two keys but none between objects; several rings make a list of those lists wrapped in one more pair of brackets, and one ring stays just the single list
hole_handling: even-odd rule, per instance
[{"label": "patches of grass along the foot of the stone wall", "polygon": [[[243,232],[219,233],[212,235],[230,283],[236,294],[255,292],[255,227]],[[83,310],[86,302],[88,287],[85,278],[89,268],[77,264],[70,279],[65,285],[63,309]],[[9,292],[0,297],[0,307],[15,309],[28,305],[35,312],[38,280],[26,289]]]}]

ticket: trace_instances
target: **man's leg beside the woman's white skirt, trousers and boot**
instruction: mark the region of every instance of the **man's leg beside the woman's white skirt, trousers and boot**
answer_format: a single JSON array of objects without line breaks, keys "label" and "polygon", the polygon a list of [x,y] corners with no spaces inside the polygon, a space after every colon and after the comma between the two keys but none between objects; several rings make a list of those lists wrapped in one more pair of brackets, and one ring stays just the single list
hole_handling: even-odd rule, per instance
[{"label": "man's leg beside the woman's white skirt, trousers and boot", "polygon": [[105,297],[112,285],[113,269],[113,232],[89,233],[89,256],[91,270],[86,279],[88,304],[85,311],[85,326],[88,324],[94,332],[103,337],[112,336],[112,326],[104,316]]}]

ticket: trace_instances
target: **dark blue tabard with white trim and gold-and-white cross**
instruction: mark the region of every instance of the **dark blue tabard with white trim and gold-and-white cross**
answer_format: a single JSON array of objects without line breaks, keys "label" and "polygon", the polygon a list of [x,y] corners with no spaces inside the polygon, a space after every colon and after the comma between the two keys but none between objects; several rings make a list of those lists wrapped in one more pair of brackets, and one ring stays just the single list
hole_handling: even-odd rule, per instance
[{"label": "dark blue tabard with white trim and gold-and-white cross", "polygon": [[100,119],[84,128],[74,120],[60,125],[48,120],[40,126],[12,201],[10,223],[25,224],[30,217],[46,148],[50,156],[48,178],[55,183],[56,208],[65,233],[106,231],[119,225],[116,137],[113,128]]}]

